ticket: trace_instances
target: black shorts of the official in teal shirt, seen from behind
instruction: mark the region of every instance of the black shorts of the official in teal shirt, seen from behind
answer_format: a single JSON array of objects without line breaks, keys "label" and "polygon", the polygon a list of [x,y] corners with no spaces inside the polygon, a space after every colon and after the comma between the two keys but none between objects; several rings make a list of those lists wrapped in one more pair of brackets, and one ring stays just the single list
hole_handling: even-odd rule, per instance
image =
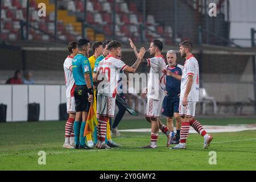
[{"label": "black shorts of the official in teal shirt, seen from behind", "polygon": [[86,111],[88,112],[90,109],[90,102],[88,101],[88,89],[86,85],[76,85],[75,92],[75,103],[76,103],[76,111]]}]

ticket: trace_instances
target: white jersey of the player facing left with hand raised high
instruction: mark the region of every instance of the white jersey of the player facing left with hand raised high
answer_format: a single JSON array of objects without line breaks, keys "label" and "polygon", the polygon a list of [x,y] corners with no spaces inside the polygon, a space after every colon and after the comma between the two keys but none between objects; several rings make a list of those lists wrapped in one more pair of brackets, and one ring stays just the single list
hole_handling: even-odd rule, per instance
[{"label": "white jersey of the player facing left with hand raised high", "polygon": [[163,55],[147,59],[147,65],[150,67],[147,82],[147,98],[153,100],[162,100],[165,97],[166,76],[162,72],[166,68],[166,61]]}]

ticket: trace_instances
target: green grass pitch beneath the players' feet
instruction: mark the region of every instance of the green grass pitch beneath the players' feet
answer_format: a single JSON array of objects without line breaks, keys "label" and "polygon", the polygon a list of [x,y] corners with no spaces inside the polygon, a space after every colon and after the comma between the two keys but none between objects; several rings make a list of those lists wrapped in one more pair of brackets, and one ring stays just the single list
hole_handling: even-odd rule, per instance
[{"label": "green grass pitch beneath the players' feet", "polygon": [[[203,125],[256,123],[256,119],[200,119]],[[0,170],[256,170],[256,130],[214,133],[208,150],[203,138],[189,134],[187,150],[171,151],[166,136],[159,135],[158,148],[143,149],[150,133],[122,132],[113,138],[122,147],[112,150],[68,150],[64,121],[0,123]],[[144,119],[121,121],[118,129],[149,128]],[[46,165],[39,165],[39,151]],[[217,164],[209,164],[209,151]],[[97,159],[97,160],[96,160]]]}]

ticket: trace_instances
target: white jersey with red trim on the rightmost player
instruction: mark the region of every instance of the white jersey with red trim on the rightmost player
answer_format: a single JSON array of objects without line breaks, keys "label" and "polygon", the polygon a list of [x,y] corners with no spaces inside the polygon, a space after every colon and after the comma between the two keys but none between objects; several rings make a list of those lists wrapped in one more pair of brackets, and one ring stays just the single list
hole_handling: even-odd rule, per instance
[{"label": "white jersey with red trim on the rightmost player", "polygon": [[188,101],[199,101],[199,64],[196,58],[191,55],[187,58],[183,68],[183,74],[180,84],[180,101],[183,100],[187,88],[188,77],[193,76],[191,91],[188,94]]}]

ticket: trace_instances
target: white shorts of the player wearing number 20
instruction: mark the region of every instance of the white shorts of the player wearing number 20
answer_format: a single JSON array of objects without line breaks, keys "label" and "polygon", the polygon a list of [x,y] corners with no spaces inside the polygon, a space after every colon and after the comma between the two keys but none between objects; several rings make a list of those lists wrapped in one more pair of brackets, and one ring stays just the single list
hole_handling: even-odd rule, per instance
[{"label": "white shorts of the player wearing number 20", "polygon": [[106,117],[114,117],[115,98],[98,95],[97,114],[100,114]]}]

